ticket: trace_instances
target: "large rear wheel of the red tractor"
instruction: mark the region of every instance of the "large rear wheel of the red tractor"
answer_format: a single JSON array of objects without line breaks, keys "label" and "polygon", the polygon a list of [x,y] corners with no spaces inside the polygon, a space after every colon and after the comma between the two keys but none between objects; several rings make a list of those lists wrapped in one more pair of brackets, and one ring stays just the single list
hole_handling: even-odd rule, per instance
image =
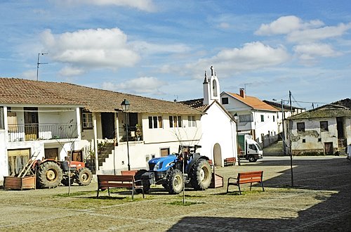
[{"label": "large rear wheel of the red tractor", "polygon": [[37,186],[39,188],[56,188],[62,181],[62,169],[55,162],[44,162],[39,165]]}]

